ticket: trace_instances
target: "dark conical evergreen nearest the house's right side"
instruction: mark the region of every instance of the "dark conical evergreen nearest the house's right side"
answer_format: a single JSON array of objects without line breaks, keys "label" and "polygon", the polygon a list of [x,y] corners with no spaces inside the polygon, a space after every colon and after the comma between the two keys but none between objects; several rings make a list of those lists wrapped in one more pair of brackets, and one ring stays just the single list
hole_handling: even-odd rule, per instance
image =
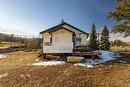
[{"label": "dark conical evergreen nearest the house's right side", "polygon": [[90,39],[89,39],[89,47],[91,50],[98,50],[98,40],[97,40],[97,34],[96,34],[96,26],[93,23],[92,25],[92,30],[90,34]]}]

